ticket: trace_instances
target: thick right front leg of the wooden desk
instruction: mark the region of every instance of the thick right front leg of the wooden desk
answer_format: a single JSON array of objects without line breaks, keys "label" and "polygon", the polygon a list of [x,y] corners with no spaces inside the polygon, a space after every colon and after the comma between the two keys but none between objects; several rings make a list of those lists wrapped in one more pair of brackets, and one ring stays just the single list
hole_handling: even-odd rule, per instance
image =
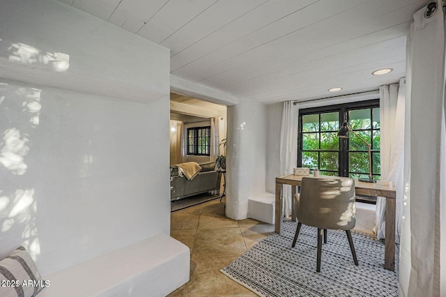
[{"label": "thick right front leg of the wooden desk", "polygon": [[396,200],[385,199],[385,250],[384,268],[395,271],[395,215]]}]

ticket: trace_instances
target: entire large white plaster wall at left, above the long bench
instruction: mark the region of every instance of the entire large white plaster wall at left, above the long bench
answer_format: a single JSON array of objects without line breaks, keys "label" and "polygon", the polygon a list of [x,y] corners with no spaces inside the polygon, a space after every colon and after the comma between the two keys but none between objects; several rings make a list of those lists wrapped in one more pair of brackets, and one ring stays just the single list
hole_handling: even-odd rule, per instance
[{"label": "entire large white plaster wall at left, above the long bench", "polygon": [[169,234],[169,50],[46,0],[3,1],[0,38],[0,257],[45,275]]}]

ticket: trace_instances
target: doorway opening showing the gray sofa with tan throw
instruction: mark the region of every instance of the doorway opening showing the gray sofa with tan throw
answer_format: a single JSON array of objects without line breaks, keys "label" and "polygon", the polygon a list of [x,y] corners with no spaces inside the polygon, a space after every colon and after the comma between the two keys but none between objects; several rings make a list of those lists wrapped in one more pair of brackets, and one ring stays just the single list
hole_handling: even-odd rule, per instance
[{"label": "doorway opening showing the gray sofa with tan throw", "polygon": [[[226,106],[170,94],[172,210],[178,210],[178,204],[185,201],[190,201],[185,207],[206,201],[203,195],[208,199],[224,195],[226,172],[217,169],[215,161],[220,164],[222,156],[226,158],[226,122]],[[184,166],[194,166],[196,175],[190,179],[187,174],[182,176]]]}]

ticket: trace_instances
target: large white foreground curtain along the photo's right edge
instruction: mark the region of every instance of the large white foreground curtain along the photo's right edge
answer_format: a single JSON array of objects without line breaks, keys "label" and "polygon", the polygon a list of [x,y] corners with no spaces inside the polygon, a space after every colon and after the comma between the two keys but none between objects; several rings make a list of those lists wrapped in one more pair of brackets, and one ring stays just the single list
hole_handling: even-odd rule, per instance
[{"label": "large white foreground curtain along the photo's right edge", "polygon": [[406,57],[400,296],[446,296],[445,21],[417,11]]}]

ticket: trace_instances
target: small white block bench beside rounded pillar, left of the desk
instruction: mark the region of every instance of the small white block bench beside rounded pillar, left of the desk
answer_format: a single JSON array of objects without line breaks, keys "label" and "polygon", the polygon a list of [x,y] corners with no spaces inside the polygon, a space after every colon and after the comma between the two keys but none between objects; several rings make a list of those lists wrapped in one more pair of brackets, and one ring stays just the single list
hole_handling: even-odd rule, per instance
[{"label": "small white block bench beside rounded pillar, left of the desk", "polygon": [[275,195],[261,193],[248,198],[248,218],[274,224]]}]

